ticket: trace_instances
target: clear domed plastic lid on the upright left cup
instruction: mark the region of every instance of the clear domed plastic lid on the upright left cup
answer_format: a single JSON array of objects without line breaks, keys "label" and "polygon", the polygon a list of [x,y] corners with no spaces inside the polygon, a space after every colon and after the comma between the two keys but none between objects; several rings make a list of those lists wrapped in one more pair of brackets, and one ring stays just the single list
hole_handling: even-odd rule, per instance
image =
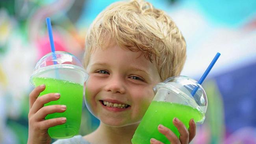
[{"label": "clear domed plastic lid on the upright left cup", "polygon": [[[75,74],[74,74],[74,70],[76,71]],[[86,79],[88,78],[88,74],[83,69],[82,63],[78,60],[78,58],[76,58],[74,55],[68,52],[56,51],[55,53],[50,52],[46,54],[37,62],[34,68],[34,72],[30,77],[30,83],[34,85],[33,77],[38,77],[38,76],[51,77],[51,75],[52,77],[54,77],[56,72],[63,72],[63,71],[68,71],[68,72],[73,71],[74,75],[70,77],[75,77],[79,75],[80,78],[77,78],[77,79],[80,79],[80,80],[75,80],[75,81],[86,81]],[[59,77],[59,78],[62,79],[63,77],[62,78]],[[67,78],[64,78],[64,79],[67,79]]]}]

